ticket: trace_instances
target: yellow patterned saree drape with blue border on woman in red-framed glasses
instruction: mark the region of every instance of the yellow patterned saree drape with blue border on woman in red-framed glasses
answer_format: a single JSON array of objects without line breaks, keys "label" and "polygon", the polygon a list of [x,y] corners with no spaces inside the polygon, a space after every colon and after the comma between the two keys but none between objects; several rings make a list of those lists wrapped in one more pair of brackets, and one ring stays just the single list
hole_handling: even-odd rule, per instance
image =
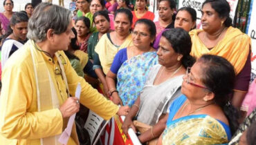
[{"label": "yellow patterned saree drape with blue border on woman in red-framed glasses", "polygon": [[190,115],[167,122],[163,144],[227,144],[223,124],[208,115]]}]

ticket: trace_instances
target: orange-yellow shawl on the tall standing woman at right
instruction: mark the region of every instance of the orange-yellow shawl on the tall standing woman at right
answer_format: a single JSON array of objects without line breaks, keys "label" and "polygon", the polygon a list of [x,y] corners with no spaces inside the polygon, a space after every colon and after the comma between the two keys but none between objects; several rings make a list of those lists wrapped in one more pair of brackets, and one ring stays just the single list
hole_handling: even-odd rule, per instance
[{"label": "orange-yellow shawl on the tall standing woman at right", "polygon": [[236,73],[238,74],[244,65],[250,51],[250,37],[244,34],[237,28],[230,26],[226,31],[225,37],[217,43],[214,48],[209,50],[199,39],[198,34],[203,30],[190,31],[190,37],[192,40],[191,55],[199,58],[203,54],[219,55],[224,57],[234,66]]}]

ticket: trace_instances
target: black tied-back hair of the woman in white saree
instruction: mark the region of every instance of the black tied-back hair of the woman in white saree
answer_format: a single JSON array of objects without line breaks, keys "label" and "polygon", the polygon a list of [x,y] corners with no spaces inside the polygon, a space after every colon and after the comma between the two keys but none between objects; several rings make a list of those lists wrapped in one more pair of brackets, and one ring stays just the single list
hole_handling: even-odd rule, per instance
[{"label": "black tied-back hair of the woman in white saree", "polygon": [[194,64],[196,60],[190,55],[192,41],[187,31],[183,30],[183,28],[172,28],[163,32],[162,37],[165,37],[171,43],[176,53],[183,55],[181,64],[185,68]]}]

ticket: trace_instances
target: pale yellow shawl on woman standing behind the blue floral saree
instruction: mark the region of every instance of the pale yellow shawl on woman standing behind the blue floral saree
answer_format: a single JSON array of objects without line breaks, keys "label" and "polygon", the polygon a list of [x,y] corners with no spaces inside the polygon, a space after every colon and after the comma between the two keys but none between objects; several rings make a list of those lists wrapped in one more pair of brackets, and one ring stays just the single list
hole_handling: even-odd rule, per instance
[{"label": "pale yellow shawl on woman standing behind the blue floral saree", "polygon": [[95,52],[99,55],[100,64],[104,74],[107,75],[107,72],[109,72],[111,64],[113,63],[113,58],[116,56],[118,50],[127,48],[128,46],[133,46],[131,35],[127,36],[125,41],[118,48],[111,43],[107,34],[102,35],[97,46],[95,46]]}]

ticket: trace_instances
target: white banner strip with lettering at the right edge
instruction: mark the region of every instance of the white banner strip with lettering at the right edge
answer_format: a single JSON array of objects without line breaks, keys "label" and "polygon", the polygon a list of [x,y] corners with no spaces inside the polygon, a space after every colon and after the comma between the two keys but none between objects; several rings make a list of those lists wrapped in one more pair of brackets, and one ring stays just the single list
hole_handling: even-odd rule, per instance
[{"label": "white banner strip with lettering at the right edge", "polygon": [[250,60],[252,64],[252,72],[250,75],[250,80],[253,81],[253,79],[256,78],[256,2],[255,0],[252,0],[250,3],[250,12],[248,17],[248,26],[246,29],[246,34],[250,36],[250,39],[252,41],[252,55],[250,55]]}]

